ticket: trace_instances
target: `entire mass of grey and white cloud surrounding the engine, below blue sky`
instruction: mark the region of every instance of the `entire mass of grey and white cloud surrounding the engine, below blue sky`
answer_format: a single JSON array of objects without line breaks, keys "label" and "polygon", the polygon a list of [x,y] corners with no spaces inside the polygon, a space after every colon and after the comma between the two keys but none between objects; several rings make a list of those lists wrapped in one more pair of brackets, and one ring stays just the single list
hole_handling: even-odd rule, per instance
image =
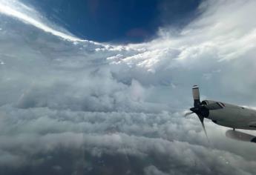
[{"label": "entire mass of grey and white cloud surrounding the engine, below blue sky", "polygon": [[183,118],[193,84],[255,105],[255,1],[212,3],[179,35],[119,46],[1,14],[0,174],[255,174],[255,145]]}]

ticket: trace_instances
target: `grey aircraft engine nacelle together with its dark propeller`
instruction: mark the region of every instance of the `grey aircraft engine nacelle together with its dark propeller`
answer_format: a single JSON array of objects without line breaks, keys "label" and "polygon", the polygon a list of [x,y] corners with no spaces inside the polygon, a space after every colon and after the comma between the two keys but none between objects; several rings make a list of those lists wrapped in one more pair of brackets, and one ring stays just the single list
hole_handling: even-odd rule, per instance
[{"label": "grey aircraft engine nacelle together with its dark propeller", "polygon": [[233,131],[235,129],[256,130],[256,110],[207,99],[200,102],[199,87],[197,85],[192,87],[192,93],[194,108],[190,108],[191,112],[186,113],[185,116],[196,113],[205,133],[206,128],[203,124],[205,118],[211,119],[217,125],[233,128]]}]

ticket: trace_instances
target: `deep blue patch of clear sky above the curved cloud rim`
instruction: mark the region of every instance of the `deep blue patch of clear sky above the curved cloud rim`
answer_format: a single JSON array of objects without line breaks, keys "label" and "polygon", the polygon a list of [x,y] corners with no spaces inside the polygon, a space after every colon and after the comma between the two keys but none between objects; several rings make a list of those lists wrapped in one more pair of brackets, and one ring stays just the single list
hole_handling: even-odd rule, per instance
[{"label": "deep blue patch of clear sky above the curved cloud rim", "polygon": [[200,0],[24,0],[56,24],[96,42],[145,42],[159,27],[185,26]]}]

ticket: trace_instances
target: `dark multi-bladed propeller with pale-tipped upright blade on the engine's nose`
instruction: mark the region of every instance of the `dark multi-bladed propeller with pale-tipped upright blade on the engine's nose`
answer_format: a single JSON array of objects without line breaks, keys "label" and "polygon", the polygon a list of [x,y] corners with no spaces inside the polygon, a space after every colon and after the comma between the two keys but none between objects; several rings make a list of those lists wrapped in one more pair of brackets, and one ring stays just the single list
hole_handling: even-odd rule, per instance
[{"label": "dark multi-bladed propeller with pale-tipped upright blade on the engine's nose", "polygon": [[[200,93],[199,93],[199,87],[197,85],[194,85],[192,88],[192,93],[193,93],[193,99],[194,99],[194,108],[190,108],[191,112],[186,113],[185,116],[190,115],[191,113],[196,113],[198,118],[200,119],[201,125],[203,127],[203,131],[206,133],[206,127],[203,124],[203,119],[207,116],[209,116],[209,110],[216,109],[214,108],[215,105],[212,107],[209,105],[203,105],[200,102]],[[206,137],[208,139],[207,133]]]}]

